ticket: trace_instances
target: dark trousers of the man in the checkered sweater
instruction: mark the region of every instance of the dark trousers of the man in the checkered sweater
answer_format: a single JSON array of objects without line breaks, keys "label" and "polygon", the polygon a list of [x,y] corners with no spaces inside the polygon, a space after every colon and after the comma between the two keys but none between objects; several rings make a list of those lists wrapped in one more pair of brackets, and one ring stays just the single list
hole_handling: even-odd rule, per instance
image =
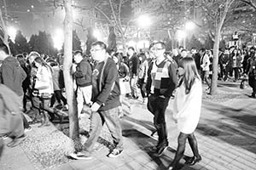
[{"label": "dark trousers of the man in the checkered sweater", "polygon": [[170,98],[161,98],[158,95],[148,96],[148,111],[154,115],[154,127],[158,133],[157,148],[168,145],[166,132],[166,107]]}]

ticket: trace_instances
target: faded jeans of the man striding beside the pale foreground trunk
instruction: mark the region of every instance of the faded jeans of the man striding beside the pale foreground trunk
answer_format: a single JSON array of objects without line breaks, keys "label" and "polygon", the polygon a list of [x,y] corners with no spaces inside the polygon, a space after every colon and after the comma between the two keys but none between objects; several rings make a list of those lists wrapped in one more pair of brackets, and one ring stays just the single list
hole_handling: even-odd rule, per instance
[{"label": "faded jeans of the man striding beside the pale foreground trunk", "polygon": [[123,150],[122,128],[118,116],[118,107],[108,111],[93,112],[90,115],[90,137],[84,143],[84,151],[92,152],[102,127],[106,122],[109,132],[113,138],[113,144],[118,150]]}]

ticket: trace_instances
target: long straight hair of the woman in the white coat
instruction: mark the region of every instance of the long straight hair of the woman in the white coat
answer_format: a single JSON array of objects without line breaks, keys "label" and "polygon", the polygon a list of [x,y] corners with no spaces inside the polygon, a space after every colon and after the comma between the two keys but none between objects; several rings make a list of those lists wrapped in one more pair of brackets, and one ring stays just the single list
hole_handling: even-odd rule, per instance
[{"label": "long straight hair of the woman in the white coat", "polygon": [[201,80],[196,69],[195,60],[192,57],[185,57],[180,60],[179,67],[184,69],[184,74],[177,87],[180,87],[184,83],[185,94],[189,94],[195,82],[195,78]]}]

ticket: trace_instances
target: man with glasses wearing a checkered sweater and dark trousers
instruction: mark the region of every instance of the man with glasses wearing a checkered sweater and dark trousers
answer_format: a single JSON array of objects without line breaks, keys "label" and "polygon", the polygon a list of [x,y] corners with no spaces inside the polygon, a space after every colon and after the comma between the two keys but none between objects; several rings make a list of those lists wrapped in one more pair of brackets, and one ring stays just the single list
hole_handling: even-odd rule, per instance
[{"label": "man with glasses wearing a checkered sweater and dark trousers", "polygon": [[154,42],[151,48],[154,61],[148,68],[148,111],[154,114],[154,127],[158,133],[158,144],[152,148],[161,156],[168,147],[166,133],[166,107],[177,84],[177,66],[166,59],[166,44]]}]

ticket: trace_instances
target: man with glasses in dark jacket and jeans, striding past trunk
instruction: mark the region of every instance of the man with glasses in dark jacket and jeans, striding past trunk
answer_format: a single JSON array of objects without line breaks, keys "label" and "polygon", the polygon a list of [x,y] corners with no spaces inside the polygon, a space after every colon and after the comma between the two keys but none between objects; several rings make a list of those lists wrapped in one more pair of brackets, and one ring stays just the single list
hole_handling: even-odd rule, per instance
[{"label": "man with glasses in dark jacket and jeans, striding past trunk", "polygon": [[120,88],[117,67],[106,52],[105,43],[94,42],[91,45],[90,53],[92,59],[96,61],[95,69],[92,72],[93,104],[90,107],[90,137],[84,143],[84,150],[70,155],[80,160],[91,159],[91,152],[104,122],[113,137],[114,144],[114,149],[108,154],[108,157],[117,157],[123,151],[122,129],[118,116]]}]

